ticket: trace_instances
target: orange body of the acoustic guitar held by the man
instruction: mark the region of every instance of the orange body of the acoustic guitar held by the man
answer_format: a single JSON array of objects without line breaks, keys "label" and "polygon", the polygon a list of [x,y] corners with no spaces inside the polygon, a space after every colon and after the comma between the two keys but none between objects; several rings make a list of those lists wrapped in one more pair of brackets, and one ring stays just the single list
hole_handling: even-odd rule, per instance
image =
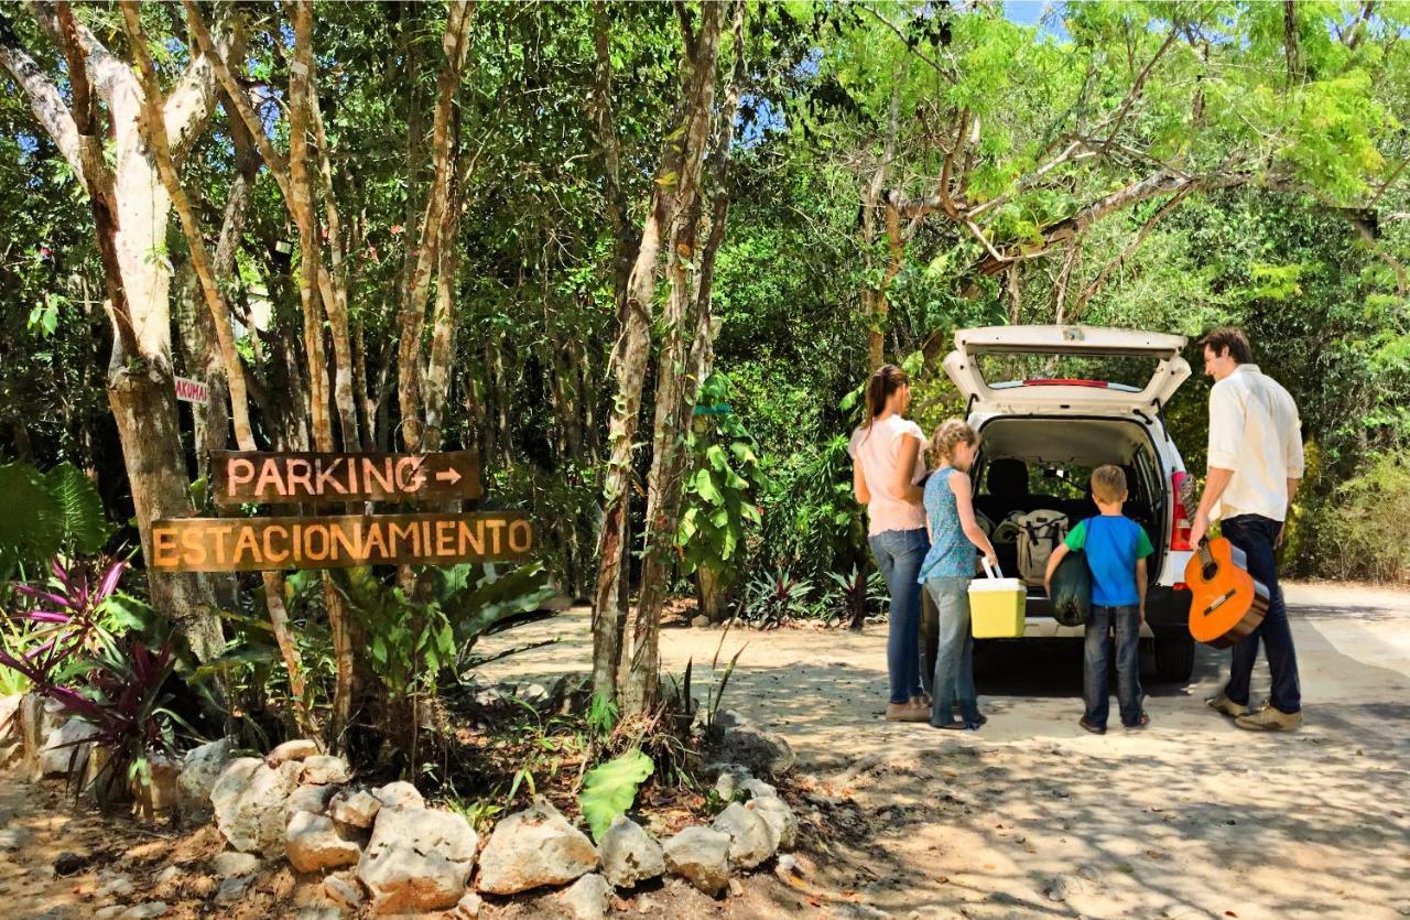
[{"label": "orange body of the acoustic guitar held by the man", "polygon": [[1190,635],[1227,649],[1249,636],[1268,614],[1268,588],[1248,573],[1244,550],[1225,538],[1207,540],[1184,566],[1190,586]]}]

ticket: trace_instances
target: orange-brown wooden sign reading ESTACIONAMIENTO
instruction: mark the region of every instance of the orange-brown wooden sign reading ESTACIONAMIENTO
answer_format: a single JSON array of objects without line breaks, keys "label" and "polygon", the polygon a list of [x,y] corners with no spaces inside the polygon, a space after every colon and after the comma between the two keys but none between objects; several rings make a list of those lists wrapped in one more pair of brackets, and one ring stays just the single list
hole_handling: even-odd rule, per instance
[{"label": "orange-brown wooden sign reading ESTACIONAMIENTO", "polygon": [[509,562],[534,549],[533,525],[513,511],[172,518],[152,522],[159,571],[345,569],[378,563]]}]

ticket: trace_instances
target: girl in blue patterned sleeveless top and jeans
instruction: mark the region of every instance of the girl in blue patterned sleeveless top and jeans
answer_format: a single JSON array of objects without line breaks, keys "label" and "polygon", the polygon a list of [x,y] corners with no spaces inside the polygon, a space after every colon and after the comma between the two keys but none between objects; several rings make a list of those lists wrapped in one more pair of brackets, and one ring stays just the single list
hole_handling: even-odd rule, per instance
[{"label": "girl in blue patterned sleeveless top and jeans", "polygon": [[[939,610],[939,649],[935,656],[931,725],[977,730],[984,724],[974,691],[974,638],[970,635],[969,583],[974,577],[974,549],[997,566],[994,545],[974,521],[969,468],[979,435],[960,419],[948,419],[931,437],[931,463],[938,468],[925,483],[925,518],[931,552],[921,563],[919,581]],[[960,720],[953,707],[960,707]]]}]

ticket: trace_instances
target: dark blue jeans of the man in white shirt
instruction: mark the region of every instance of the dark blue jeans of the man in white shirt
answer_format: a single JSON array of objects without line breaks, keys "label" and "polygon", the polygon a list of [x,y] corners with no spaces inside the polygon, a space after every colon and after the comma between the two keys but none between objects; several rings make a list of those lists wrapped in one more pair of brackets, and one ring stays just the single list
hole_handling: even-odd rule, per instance
[{"label": "dark blue jeans of the man in white shirt", "polygon": [[1248,706],[1248,684],[1258,659],[1258,642],[1262,639],[1268,648],[1268,667],[1273,672],[1270,703],[1275,710],[1292,714],[1301,711],[1303,694],[1297,682],[1293,631],[1287,624],[1287,605],[1283,604],[1283,588],[1277,586],[1277,562],[1273,559],[1273,540],[1282,526],[1277,521],[1259,515],[1239,515],[1220,525],[1220,532],[1230,538],[1230,543],[1248,555],[1248,573],[1268,588],[1268,615],[1258,629],[1234,646],[1224,696],[1239,706]]}]

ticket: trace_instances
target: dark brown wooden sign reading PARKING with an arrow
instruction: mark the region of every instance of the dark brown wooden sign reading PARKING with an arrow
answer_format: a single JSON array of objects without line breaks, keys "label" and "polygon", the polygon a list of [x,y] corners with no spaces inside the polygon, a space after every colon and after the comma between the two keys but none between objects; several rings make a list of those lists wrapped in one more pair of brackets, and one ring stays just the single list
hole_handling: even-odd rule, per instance
[{"label": "dark brown wooden sign reading PARKING with an arrow", "polygon": [[453,501],[479,498],[474,450],[398,453],[212,454],[216,502]]}]

